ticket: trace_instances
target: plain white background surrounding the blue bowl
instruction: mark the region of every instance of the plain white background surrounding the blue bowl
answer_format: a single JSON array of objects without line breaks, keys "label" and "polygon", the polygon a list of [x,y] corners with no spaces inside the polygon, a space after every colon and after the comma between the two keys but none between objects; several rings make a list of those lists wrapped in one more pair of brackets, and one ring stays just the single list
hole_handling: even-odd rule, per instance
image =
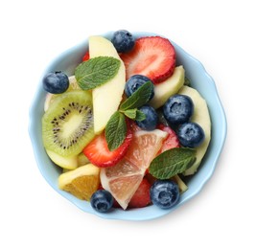
[{"label": "plain white background surrounding the blue bowl", "polygon": [[[255,248],[254,1],[3,2],[0,248]],[[166,35],[197,57],[216,81],[228,122],[202,192],[145,222],[84,214],[59,196],[37,169],[28,135],[47,63],[90,34],[119,29]]]}]

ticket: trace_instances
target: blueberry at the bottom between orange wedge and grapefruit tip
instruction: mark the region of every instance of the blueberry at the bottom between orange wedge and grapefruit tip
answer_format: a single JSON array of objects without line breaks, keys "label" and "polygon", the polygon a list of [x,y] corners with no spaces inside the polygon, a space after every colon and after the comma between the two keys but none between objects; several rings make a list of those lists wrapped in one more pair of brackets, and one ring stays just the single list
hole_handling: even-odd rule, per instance
[{"label": "blueberry at the bottom between orange wedge and grapefruit tip", "polygon": [[95,211],[105,213],[112,208],[114,198],[110,192],[100,190],[92,194],[90,203]]}]

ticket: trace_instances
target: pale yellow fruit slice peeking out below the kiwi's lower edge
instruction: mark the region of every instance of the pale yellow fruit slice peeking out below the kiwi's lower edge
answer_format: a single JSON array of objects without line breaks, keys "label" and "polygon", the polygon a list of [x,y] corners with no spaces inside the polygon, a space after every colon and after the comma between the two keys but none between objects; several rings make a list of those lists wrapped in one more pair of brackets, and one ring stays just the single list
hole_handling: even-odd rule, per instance
[{"label": "pale yellow fruit slice peeking out below the kiwi's lower edge", "polygon": [[51,158],[51,160],[58,165],[58,167],[61,167],[66,170],[74,170],[78,168],[78,156],[69,156],[64,157],[61,155],[58,155],[56,152],[51,151],[49,149],[46,149],[47,155]]}]

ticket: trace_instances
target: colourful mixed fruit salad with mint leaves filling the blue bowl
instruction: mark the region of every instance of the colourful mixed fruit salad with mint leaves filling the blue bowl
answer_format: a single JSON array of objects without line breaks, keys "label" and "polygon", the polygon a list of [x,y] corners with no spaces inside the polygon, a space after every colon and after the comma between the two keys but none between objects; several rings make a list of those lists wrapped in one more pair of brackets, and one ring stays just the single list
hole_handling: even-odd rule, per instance
[{"label": "colourful mixed fruit salad with mint leaves filling the blue bowl", "polygon": [[207,103],[162,36],[94,35],[72,76],[51,72],[42,117],[58,188],[100,213],[155,205],[186,192],[211,139]]}]

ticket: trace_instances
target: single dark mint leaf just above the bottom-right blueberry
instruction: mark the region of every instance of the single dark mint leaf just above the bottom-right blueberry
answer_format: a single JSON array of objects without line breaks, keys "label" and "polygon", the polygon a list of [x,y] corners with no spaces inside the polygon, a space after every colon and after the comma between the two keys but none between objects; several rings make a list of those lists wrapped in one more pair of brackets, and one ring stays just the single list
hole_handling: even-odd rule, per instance
[{"label": "single dark mint leaf just above the bottom-right blueberry", "polygon": [[196,150],[175,147],[164,151],[151,161],[150,173],[157,179],[169,179],[189,169],[196,160]]}]

